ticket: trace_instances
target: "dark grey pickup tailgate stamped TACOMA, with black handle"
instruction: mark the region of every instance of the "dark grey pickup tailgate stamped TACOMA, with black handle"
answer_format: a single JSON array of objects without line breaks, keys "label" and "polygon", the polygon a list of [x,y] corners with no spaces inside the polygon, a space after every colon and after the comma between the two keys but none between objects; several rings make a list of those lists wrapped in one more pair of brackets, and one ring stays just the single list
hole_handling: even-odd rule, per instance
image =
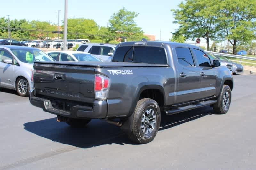
[{"label": "dark grey pickup tailgate stamped TACOMA, with black handle", "polygon": [[93,103],[94,67],[34,64],[36,96]]}]

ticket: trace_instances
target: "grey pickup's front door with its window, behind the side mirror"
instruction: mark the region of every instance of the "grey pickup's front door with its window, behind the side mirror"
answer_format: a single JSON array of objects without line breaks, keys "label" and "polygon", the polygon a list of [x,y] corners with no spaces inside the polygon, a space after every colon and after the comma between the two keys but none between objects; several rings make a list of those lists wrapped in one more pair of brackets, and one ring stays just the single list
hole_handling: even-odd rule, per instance
[{"label": "grey pickup's front door with its window, behind the side mirror", "polygon": [[217,69],[212,68],[210,58],[201,49],[193,49],[200,72],[200,98],[207,98],[216,94]]}]

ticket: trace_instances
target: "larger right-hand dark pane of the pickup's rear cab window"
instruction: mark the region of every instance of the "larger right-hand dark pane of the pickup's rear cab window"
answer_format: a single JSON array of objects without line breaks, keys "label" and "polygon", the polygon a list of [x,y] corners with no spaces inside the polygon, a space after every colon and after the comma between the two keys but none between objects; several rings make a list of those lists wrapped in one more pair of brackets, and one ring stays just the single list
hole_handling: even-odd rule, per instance
[{"label": "larger right-hand dark pane of the pickup's rear cab window", "polygon": [[132,61],[149,64],[167,64],[164,48],[160,47],[134,47]]}]

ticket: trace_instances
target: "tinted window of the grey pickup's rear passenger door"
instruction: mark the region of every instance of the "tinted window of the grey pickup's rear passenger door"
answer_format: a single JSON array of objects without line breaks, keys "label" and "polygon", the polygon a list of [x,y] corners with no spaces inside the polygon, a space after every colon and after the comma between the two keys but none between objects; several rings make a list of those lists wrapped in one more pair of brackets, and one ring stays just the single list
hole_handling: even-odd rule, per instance
[{"label": "tinted window of the grey pickup's rear passenger door", "polygon": [[191,51],[189,48],[175,48],[178,62],[184,66],[195,66]]}]

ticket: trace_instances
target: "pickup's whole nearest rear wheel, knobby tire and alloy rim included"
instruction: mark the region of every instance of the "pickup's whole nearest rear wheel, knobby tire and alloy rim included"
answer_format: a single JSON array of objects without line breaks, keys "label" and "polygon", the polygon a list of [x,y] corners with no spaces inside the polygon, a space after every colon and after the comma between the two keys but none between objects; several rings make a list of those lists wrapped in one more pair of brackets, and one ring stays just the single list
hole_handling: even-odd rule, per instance
[{"label": "pickup's whole nearest rear wheel, knobby tire and alloy rim included", "polygon": [[156,137],[161,121],[157,102],[149,98],[139,100],[132,116],[133,119],[126,122],[131,124],[126,132],[128,137],[139,144],[151,142]]}]

